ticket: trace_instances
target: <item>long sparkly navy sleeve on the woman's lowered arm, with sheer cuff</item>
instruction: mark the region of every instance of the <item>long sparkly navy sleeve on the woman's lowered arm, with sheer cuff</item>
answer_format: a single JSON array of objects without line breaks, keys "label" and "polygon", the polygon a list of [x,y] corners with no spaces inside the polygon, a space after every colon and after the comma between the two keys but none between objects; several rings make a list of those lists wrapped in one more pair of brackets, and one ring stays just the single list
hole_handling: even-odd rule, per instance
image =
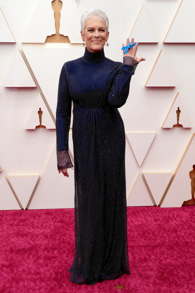
[{"label": "long sparkly navy sleeve on the woman's lowered arm, with sheer cuff", "polygon": [[72,99],[68,90],[65,64],[61,69],[56,108],[56,152],[58,170],[74,167],[68,153]]}]

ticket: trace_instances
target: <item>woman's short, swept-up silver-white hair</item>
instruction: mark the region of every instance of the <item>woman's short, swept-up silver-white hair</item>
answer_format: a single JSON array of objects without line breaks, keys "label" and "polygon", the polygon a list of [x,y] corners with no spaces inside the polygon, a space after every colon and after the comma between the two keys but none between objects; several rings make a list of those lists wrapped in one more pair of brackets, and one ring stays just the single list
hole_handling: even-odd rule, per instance
[{"label": "woman's short, swept-up silver-white hair", "polygon": [[85,28],[85,23],[87,19],[93,18],[94,16],[97,16],[101,19],[103,23],[106,25],[106,33],[108,33],[108,26],[109,26],[109,21],[108,21],[108,16],[106,15],[105,12],[103,12],[100,9],[90,9],[85,11],[83,15],[81,16],[81,31],[84,35],[84,28]]}]

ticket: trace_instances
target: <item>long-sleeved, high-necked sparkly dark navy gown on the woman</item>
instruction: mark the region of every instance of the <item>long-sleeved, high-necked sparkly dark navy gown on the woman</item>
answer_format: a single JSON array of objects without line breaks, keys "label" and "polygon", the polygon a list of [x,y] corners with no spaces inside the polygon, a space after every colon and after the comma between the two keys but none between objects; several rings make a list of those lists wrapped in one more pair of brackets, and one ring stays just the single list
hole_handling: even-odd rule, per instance
[{"label": "long-sleeved, high-necked sparkly dark navy gown on the woman", "polygon": [[127,100],[137,64],[129,56],[123,57],[123,63],[115,62],[105,57],[103,49],[93,53],[85,48],[83,57],[65,62],[61,69],[57,167],[73,166],[68,153],[73,100],[75,258],[68,272],[77,284],[92,285],[130,274],[125,130],[117,108]]}]

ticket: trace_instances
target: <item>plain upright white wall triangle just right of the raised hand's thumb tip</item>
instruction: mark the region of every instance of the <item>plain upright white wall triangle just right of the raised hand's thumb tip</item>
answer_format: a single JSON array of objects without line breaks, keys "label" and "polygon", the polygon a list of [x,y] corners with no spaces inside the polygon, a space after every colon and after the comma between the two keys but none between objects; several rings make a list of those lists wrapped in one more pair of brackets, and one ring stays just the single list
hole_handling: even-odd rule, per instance
[{"label": "plain upright white wall triangle just right of the raised hand's thumb tip", "polygon": [[145,86],[175,86],[175,79],[163,50],[158,54]]}]

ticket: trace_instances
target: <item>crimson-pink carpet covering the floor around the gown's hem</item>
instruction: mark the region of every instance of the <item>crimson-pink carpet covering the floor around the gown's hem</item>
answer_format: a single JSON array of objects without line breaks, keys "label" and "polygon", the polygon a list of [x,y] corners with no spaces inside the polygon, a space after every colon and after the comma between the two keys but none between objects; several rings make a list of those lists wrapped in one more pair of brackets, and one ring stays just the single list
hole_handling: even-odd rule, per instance
[{"label": "crimson-pink carpet covering the floor around the gown's hem", "polygon": [[74,209],[0,211],[0,292],[194,293],[195,205],[127,207],[127,221],[131,275],[89,286],[68,272]]}]

